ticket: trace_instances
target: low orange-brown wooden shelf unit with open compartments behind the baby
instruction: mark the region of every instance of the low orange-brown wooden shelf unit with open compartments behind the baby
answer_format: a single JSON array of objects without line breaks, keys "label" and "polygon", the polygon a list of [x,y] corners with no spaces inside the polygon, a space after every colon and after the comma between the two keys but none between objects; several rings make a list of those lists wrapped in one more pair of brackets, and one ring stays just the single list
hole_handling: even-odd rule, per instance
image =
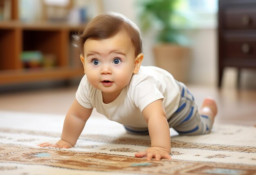
[{"label": "low orange-brown wooden shelf unit with open compartments behind the baby", "polygon": [[[85,26],[49,22],[22,23],[18,20],[18,0],[11,2],[11,20],[0,21],[0,85],[82,76],[80,51],[72,46],[71,36]],[[52,55],[55,65],[25,68],[21,54],[33,50],[43,55]]]}]

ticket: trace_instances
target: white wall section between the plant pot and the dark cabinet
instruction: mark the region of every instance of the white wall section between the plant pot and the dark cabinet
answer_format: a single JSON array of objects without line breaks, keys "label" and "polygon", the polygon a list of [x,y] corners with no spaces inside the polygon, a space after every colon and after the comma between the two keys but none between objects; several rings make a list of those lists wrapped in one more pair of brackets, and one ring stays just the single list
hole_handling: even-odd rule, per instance
[{"label": "white wall section between the plant pot and the dark cabinet", "polygon": [[214,28],[193,29],[191,39],[191,69],[189,83],[217,84],[217,31]]}]

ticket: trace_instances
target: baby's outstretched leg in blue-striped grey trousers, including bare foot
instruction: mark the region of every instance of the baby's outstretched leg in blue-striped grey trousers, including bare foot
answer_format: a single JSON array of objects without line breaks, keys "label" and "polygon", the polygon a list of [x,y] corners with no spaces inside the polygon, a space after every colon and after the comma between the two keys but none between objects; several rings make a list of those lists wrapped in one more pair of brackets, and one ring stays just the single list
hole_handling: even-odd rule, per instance
[{"label": "baby's outstretched leg in blue-striped grey trousers, including bare foot", "polygon": [[195,136],[209,133],[217,114],[216,102],[212,98],[205,98],[198,110],[194,97],[186,85],[181,82],[177,82],[177,85],[181,92],[180,104],[168,119],[170,128],[175,129],[180,135]]}]

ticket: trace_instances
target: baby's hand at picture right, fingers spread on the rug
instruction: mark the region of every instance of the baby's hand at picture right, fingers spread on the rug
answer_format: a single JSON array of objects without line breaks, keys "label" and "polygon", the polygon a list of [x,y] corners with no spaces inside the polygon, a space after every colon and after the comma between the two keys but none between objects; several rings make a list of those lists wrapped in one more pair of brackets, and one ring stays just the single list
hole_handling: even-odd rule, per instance
[{"label": "baby's hand at picture right, fingers spread on the rug", "polygon": [[161,147],[150,147],[146,151],[136,153],[135,157],[137,158],[147,157],[147,160],[151,160],[152,158],[155,158],[155,160],[171,159],[171,156],[169,155],[169,151]]}]

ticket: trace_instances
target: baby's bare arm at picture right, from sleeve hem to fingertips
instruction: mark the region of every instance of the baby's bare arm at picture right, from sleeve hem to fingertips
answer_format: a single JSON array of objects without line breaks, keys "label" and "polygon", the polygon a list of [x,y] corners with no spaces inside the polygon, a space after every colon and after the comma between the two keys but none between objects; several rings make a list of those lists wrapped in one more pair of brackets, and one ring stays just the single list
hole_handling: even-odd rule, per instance
[{"label": "baby's bare arm at picture right, from sleeve hem to fingertips", "polygon": [[148,131],[151,139],[151,147],[144,152],[136,153],[137,158],[147,157],[148,160],[155,158],[171,159],[169,153],[171,151],[170,128],[166,120],[166,113],[162,100],[150,103],[143,110],[142,114],[148,123]]}]

